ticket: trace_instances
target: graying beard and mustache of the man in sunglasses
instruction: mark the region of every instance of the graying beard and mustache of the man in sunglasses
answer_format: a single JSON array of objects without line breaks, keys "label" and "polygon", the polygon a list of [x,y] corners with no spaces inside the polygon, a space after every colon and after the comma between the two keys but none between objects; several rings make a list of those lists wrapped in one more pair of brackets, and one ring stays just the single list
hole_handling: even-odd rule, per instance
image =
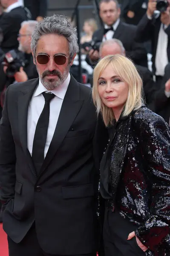
[{"label": "graying beard and mustache of the man in sunglasses", "polygon": [[[63,84],[63,82],[66,80],[68,76],[69,70],[70,70],[70,65],[66,67],[66,70],[64,71],[63,74],[61,74],[61,72],[58,70],[52,70],[52,71],[46,70],[42,73],[42,75],[40,75],[40,70],[37,67],[37,72],[39,74],[40,81],[43,84],[43,86],[46,87],[47,90],[54,90],[59,85]],[[57,81],[55,79],[45,80],[45,77],[50,75],[58,76],[58,80]]]}]

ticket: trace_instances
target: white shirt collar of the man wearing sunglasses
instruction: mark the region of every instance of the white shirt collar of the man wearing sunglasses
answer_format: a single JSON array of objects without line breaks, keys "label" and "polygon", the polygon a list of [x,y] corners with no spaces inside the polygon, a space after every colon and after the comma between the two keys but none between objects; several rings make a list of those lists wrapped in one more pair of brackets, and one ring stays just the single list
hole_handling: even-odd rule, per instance
[{"label": "white shirt collar of the man wearing sunglasses", "polygon": [[70,73],[68,74],[66,80],[63,82],[63,84],[59,85],[58,87],[56,87],[54,90],[51,91],[47,91],[46,87],[43,86],[43,84],[41,83],[40,79],[39,79],[39,84],[37,89],[35,90],[35,93],[33,95],[33,97],[36,97],[38,95],[40,95],[43,92],[51,92],[53,94],[55,94],[55,96],[57,96],[60,99],[64,99],[64,96],[66,94],[67,88],[69,86],[69,82],[70,82]]}]

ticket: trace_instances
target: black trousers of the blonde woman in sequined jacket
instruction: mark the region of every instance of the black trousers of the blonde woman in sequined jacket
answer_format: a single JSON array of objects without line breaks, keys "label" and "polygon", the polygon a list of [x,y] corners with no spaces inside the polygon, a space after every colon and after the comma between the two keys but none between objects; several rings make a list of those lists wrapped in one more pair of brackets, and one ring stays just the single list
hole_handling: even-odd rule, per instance
[{"label": "black trousers of the blonde woman in sequined jacket", "polygon": [[145,256],[135,237],[127,240],[135,229],[136,225],[121,217],[118,211],[106,209],[103,229],[105,256]]}]

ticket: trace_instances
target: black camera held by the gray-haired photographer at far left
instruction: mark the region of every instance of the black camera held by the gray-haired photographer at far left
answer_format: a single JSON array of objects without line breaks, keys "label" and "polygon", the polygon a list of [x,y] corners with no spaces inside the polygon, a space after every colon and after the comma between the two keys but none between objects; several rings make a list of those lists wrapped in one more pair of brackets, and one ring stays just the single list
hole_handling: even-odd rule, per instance
[{"label": "black camera held by the gray-haired photographer at far left", "polygon": [[2,64],[7,67],[6,76],[14,77],[14,74],[20,71],[20,67],[25,67],[26,61],[21,58],[18,52],[11,50],[4,54]]}]

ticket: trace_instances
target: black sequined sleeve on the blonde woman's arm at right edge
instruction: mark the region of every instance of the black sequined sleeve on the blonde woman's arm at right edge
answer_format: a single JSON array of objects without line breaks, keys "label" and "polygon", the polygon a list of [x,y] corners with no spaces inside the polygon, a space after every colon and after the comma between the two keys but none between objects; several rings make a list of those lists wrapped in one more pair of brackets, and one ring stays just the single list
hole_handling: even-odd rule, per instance
[{"label": "black sequined sleeve on the blonde woman's arm at right edge", "polygon": [[166,247],[170,242],[170,127],[160,116],[144,122],[144,129],[141,122],[135,129],[140,133],[139,148],[151,183],[150,215],[135,235],[149,250],[156,251],[159,244]]}]

